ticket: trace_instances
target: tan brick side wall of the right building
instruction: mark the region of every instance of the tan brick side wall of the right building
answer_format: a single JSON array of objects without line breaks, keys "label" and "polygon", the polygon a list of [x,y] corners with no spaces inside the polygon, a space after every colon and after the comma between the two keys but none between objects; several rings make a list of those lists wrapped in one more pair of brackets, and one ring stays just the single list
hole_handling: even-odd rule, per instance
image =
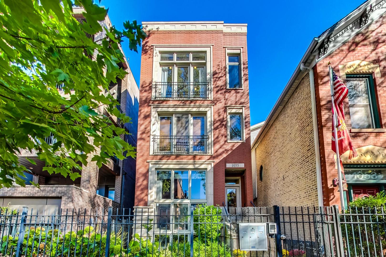
[{"label": "tan brick side wall of the right building", "polygon": [[318,205],[308,73],[257,145],[256,170],[258,205]]}]

